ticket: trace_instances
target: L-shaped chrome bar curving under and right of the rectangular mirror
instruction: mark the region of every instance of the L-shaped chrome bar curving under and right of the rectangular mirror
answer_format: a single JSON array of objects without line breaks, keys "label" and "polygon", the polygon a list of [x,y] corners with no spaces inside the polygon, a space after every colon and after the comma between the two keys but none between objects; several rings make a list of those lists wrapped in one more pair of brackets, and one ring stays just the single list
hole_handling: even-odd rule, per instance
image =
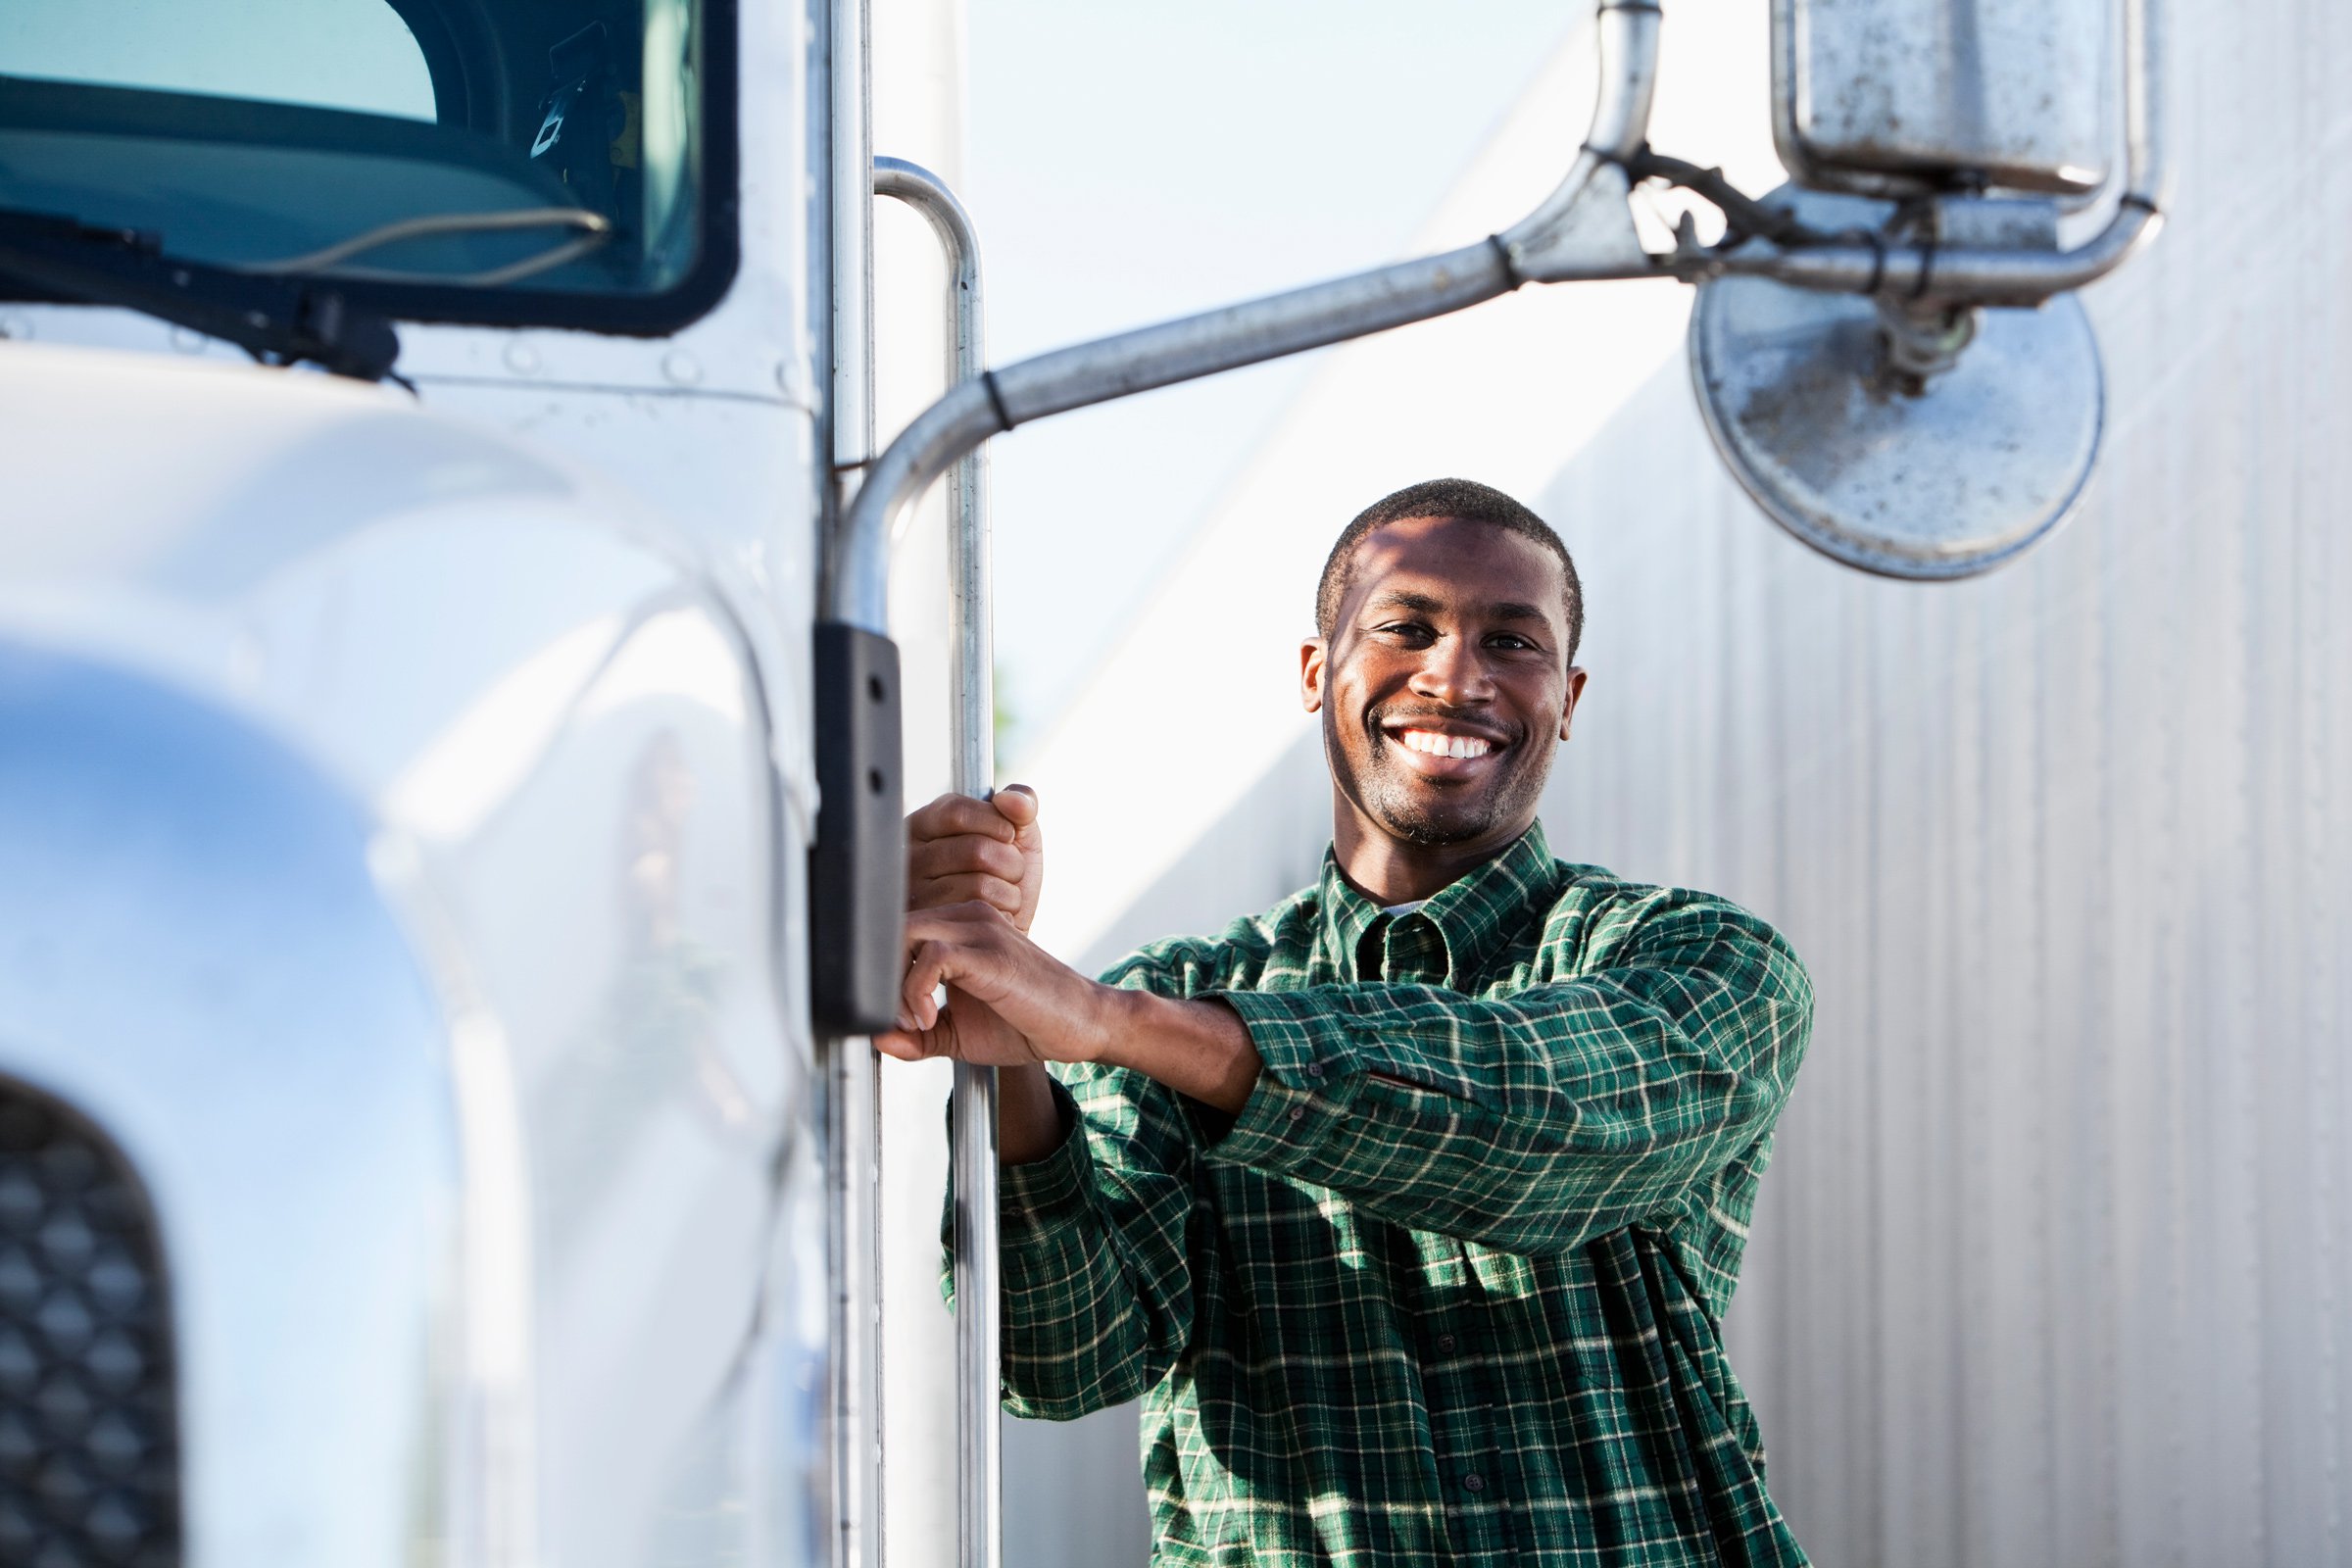
[{"label": "L-shaped chrome bar curving under and right of the rectangular mirror", "polygon": [[1837,294],[1917,294],[1973,306],[2037,306],[2098,282],[2157,237],[2171,174],[2164,160],[2164,0],[2124,7],[2124,197],[2093,240],[2070,252],[1924,249],[1917,244],[1752,242],[1710,273],[1773,277]]}]

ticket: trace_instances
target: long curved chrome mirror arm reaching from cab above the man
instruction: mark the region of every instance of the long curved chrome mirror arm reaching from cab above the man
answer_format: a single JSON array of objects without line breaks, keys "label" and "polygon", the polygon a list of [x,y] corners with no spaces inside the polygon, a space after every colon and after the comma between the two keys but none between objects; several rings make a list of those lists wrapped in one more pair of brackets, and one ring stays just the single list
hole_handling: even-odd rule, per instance
[{"label": "long curved chrome mirror arm reaching from cab above the man", "polygon": [[875,458],[833,541],[826,607],[887,635],[889,548],[906,508],[950,463],[1000,430],[1176,381],[1425,322],[1510,294],[1522,282],[1649,277],[1613,158],[1642,146],[1658,73],[1658,7],[1599,7],[1602,92],[1566,181],[1515,228],[1442,256],[1399,261],[1289,294],[1122,331],[957,383]]}]

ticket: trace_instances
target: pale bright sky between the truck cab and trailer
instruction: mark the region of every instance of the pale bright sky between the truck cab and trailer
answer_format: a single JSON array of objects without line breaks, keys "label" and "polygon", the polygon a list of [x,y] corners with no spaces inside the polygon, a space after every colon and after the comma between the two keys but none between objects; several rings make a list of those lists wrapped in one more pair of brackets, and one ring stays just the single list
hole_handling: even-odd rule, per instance
[{"label": "pale bright sky between the truck cab and trailer", "polygon": [[[1395,259],[1581,14],[1559,0],[969,0],[964,183],[990,360]],[[997,437],[1007,764],[1047,733],[1310,360]]]}]

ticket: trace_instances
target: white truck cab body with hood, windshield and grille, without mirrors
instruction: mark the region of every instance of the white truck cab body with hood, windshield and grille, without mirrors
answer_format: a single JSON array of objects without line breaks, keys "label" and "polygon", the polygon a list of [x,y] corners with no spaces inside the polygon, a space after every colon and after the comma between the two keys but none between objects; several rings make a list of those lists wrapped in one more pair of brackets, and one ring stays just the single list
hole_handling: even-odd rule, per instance
[{"label": "white truck cab body with hood, windshield and grille, without mirrors", "polygon": [[821,1559],[821,66],[0,16],[0,1561]]}]

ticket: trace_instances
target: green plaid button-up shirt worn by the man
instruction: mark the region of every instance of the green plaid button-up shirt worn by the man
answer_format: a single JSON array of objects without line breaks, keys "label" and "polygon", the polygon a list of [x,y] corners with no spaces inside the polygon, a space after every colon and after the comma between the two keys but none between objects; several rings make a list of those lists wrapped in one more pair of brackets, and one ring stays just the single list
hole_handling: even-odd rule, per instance
[{"label": "green plaid button-up shirt worn by the man", "polygon": [[1265,1058],[1230,1126],[1056,1067],[1084,1135],[1004,1171],[1004,1408],[1143,1399],[1157,1563],[1804,1561],[1717,1331],[1813,1016],[1764,922],[1531,827],[1105,980]]}]

